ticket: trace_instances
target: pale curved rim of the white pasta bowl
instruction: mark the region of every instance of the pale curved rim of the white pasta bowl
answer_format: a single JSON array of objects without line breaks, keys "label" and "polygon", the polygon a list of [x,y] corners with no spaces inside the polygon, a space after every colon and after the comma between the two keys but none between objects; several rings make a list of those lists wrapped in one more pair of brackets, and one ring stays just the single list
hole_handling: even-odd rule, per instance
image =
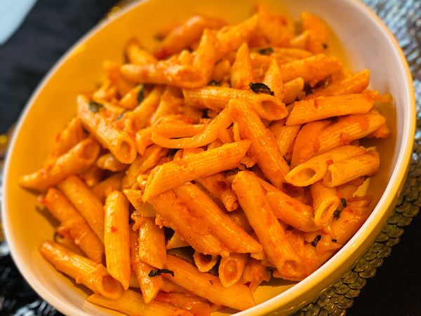
[{"label": "pale curved rim of the white pasta bowl", "polygon": [[[34,101],[39,96],[39,93],[44,89],[44,86],[46,83],[51,79],[51,77],[55,74],[57,69],[59,69],[64,62],[67,61],[68,57],[72,54],[74,49],[79,46],[81,43],[84,43],[85,41],[88,41],[92,36],[95,35],[96,32],[98,32],[100,29],[105,27],[106,25],[109,25],[113,20],[116,18],[121,17],[121,15],[124,15],[128,11],[131,11],[136,6],[140,6],[142,3],[151,1],[151,0],[140,0],[140,1],[133,1],[133,3],[128,4],[121,8],[117,13],[113,13],[109,17],[105,18],[104,20],[98,22],[97,25],[92,27],[86,34],[81,36],[81,38],[76,41],[72,46],[69,47],[69,49],[55,62],[53,67],[46,73],[44,78],[39,82],[34,92],[32,92],[31,97],[27,100],[27,103],[25,104],[25,107],[22,109],[21,114],[18,118],[18,123],[15,125],[15,130],[17,132],[13,132],[13,135],[11,137],[11,147],[15,144],[15,139],[17,138],[18,131],[22,127],[22,125],[25,123],[25,119],[27,117],[27,114],[29,113],[29,109],[31,109],[32,104],[34,104]],[[370,217],[365,221],[363,226],[357,231],[354,236],[347,242],[347,244],[344,245],[333,257],[331,257],[326,263],[323,264],[319,269],[317,269],[312,275],[309,275],[309,277],[305,278],[305,280],[300,281],[300,287],[290,287],[290,289],[287,289],[286,291],[283,291],[283,293],[274,296],[273,298],[270,298],[269,300],[260,303],[253,308],[250,308],[248,310],[244,310],[241,312],[237,312],[236,315],[262,315],[266,312],[270,312],[273,310],[276,310],[276,308],[280,308],[281,305],[288,305],[288,302],[296,300],[300,296],[301,291],[314,291],[316,288],[319,292],[328,287],[330,284],[326,282],[328,280],[328,276],[331,274],[330,271],[332,269],[334,270],[343,270],[340,269],[342,265],[346,261],[349,261],[349,259],[352,259],[352,261],[356,261],[359,256],[361,256],[364,252],[366,252],[366,247],[361,247],[363,244],[367,244],[368,242],[371,244],[375,237],[377,237],[377,234],[380,233],[380,230],[383,228],[377,225],[377,233],[371,234],[374,237],[371,238],[371,240],[368,240],[364,235],[366,234],[366,228],[368,226],[375,226],[375,224],[378,224],[379,219],[377,218],[378,214],[382,215],[382,220],[387,220],[387,215],[390,215],[386,212],[386,209],[389,205],[392,205],[394,203],[394,199],[396,198],[396,195],[399,194],[401,187],[403,185],[403,181],[406,177],[406,171],[408,168],[408,165],[410,163],[410,157],[412,154],[413,149],[413,139],[415,135],[415,118],[416,118],[416,108],[415,108],[415,92],[413,88],[413,78],[410,74],[410,69],[408,67],[408,62],[406,60],[405,55],[403,54],[403,51],[401,50],[399,43],[396,41],[394,35],[390,30],[387,28],[384,22],[373,12],[371,11],[368,6],[363,4],[360,0],[342,0],[342,2],[346,3],[347,6],[352,6],[356,10],[359,10],[359,12],[365,16],[368,20],[373,20],[373,23],[377,25],[380,28],[380,31],[382,32],[382,35],[385,36],[385,39],[394,47],[393,53],[395,55],[395,59],[399,60],[399,63],[402,66],[403,71],[403,78],[405,78],[406,81],[406,91],[403,93],[403,96],[405,99],[407,99],[407,109],[406,111],[403,111],[404,118],[406,120],[406,124],[403,127],[403,144],[401,144],[401,152],[399,153],[396,164],[394,166],[394,169],[392,170],[392,174],[390,176],[390,179],[393,181],[389,181],[389,184],[387,184],[385,188],[385,192],[382,193],[380,200],[377,202],[377,205],[373,209],[372,214],[370,214]],[[413,118],[413,119],[411,119]],[[11,165],[11,152],[13,150],[8,150],[6,152],[6,159],[4,164],[4,176],[3,181],[1,184],[1,192],[3,192],[3,198],[1,199],[1,217],[4,221],[4,223],[8,222],[8,210],[6,208],[6,205],[8,205],[7,200],[7,192],[8,188],[6,186],[6,179],[8,179],[8,169]],[[393,204],[394,207],[394,204]],[[393,209],[393,208],[392,208]],[[374,216],[375,214],[376,216]],[[373,228],[372,230],[373,231]],[[10,228],[8,225],[4,225],[4,235],[6,238],[6,241],[12,240],[13,238],[12,233],[10,231]],[[27,270],[25,269],[25,263],[20,261],[20,258],[18,257],[18,254],[15,254],[13,251],[13,247],[11,248],[11,257],[17,266],[18,270],[20,271],[20,274],[25,277],[25,280],[27,280],[28,284],[33,288],[37,289],[36,293],[38,293],[42,298],[44,298],[48,303],[51,303],[55,308],[60,310],[60,312],[64,312],[66,315],[76,315],[79,314],[78,310],[80,307],[75,308],[73,305],[67,305],[63,304],[58,298],[51,294],[50,291],[44,286],[44,284],[40,284],[39,281],[36,279],[36,277],[33,277],[31,273],[27,273]],[[350,254],[347,254],[349,249],[354,249]],[[345,272],[345,271],[344,271]],[[316,284],[316,285],[315,285]],[[296,308],[295,308],[296,309]],[[293,311],[293,308],[291,307],[291,312]]]}]

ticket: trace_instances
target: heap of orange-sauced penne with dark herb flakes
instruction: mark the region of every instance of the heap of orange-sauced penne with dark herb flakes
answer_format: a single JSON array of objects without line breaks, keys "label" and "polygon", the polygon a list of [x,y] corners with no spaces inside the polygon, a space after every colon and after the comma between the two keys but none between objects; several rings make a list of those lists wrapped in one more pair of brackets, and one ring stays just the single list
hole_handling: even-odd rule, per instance
[{"label": "heap of orange-sauced penne with dark herb flakes", "polygon": [[194,15],[105,61],[44,165],[20,178],[58,219],[39,247],[87,301],[129,315],[246,310],[299,281],[370,214],[356,195],[390,131],[370,72],[329,55],[329,29],[256,4],[229,25]]}]

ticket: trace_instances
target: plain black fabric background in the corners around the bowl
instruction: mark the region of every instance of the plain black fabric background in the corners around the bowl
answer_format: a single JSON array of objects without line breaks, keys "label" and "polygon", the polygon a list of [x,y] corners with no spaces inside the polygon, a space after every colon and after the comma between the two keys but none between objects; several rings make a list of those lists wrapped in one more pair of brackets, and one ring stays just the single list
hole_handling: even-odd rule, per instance
[{"label": "plain black fabric background in the corners around the bowl", "polygon": [[[24,24],[0,46],[0,133],[18,119],[27,99],[58,58],[102,19],[115,0],[38,0]],[[347,315],[421,315],[421,217],[405,229],[377,275]],[[34,294],[9,257],[0,260],[0,315],[12,315]],[[18,280],[16,280],[18,279]],[[8,282],[8,283],[5,283]],[[15,288],[17,286],[17,288]],[[13,301],[14,300],[14,301]],[[29,315],[53,314],[54,310]]]}]

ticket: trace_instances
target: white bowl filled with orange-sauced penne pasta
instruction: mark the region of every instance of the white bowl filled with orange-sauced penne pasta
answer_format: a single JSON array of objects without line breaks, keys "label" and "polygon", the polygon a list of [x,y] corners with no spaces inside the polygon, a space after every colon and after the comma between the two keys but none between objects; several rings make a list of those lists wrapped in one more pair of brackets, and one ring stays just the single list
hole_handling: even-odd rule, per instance
[{"label": "white bowl filled with orange-sauced penne pasta", "polygon": [[352,266],[392,212],[415,102],[385,27],[322,4],[143,1],[63,57],[6,162],[6,237],[41,296],[287,315]]}]

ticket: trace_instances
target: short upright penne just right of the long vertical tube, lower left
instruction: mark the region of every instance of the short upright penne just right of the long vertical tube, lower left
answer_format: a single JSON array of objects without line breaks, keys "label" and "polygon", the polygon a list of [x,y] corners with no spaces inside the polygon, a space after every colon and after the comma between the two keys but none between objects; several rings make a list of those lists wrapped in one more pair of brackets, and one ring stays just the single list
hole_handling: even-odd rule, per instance
[{"label": "short upright penne just right of the long vertical tube, lower left", "polygon": [[136,221],[139,236],[139,258],[150,266],[162,269],[166,264],[166,246],[163,228],[154,219],[143,217]]}]

